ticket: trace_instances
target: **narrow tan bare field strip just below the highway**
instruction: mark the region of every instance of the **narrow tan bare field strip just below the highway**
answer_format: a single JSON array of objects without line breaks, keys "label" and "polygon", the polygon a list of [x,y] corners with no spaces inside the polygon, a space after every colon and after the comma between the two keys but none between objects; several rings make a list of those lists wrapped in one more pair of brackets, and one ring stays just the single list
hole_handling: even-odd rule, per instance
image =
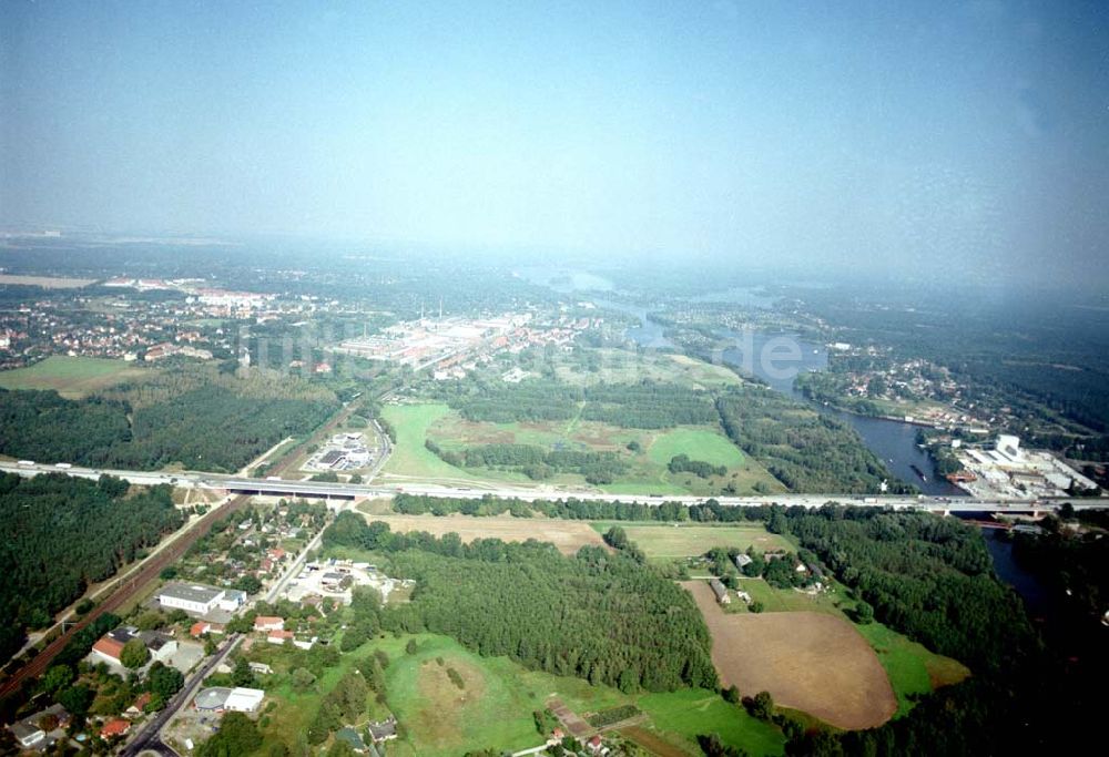
[{"label": "narrow tan bare field strip just below the highway", "polygon": [[475,539],[500,539],[506,542],[525,542],[529,539],[550,542],[563,554],[574,554],[587,544],[604,544],[601,534],[583,521],[563,521],[547,518],[474,518],[452,515],[368,515],[368,520],[385,521],[397,533],[426,531],[436,536],[457,533],[466,543]]}]

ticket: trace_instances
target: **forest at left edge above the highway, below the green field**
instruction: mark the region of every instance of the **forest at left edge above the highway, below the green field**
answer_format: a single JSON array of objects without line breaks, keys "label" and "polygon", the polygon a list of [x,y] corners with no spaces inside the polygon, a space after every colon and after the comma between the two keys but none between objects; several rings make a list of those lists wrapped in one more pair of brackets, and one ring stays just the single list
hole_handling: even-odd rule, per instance
[{"label": "forest at left edge above the highway, below the green field", "polygon": [[232,472],[335,411],[334,393],[261,372],[154,376],[81,400],[0,390],[0,453],[91,468]]}]

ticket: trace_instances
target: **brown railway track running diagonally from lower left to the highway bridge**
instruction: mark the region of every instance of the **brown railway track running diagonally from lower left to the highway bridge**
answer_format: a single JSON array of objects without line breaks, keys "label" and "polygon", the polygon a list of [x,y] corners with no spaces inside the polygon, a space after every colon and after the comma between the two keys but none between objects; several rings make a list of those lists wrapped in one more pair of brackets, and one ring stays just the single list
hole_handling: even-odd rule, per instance
[{"label": "brown railway track running diagonally from lower left to the highway bridge", "polygon": [[105,600],[93,607],[84,617],[71,626],[69,631],[50,642],[42,649],[42,652],[31,658],[30,662],[22,667],[17,668],[3,683],[0,683],[0,698],[19,690],[26,682],[31,681],[44,673],[47,668],[50,667],[50,663],[53,662],[54,657],[57,657],[59,653],[65,648],[65,645],[70,643],[74,634],[88,627],[93,621],[104,613],[113,612],[126,604],[139,590],[156,579],[159,573],[162,572],[162,569],[176,562],[190,546],[196,543],[196,540],[206,534],[212,529],[213,523],[235,512],[248,500],[248,497],[236,497],[225,502],[212,512],[205,514],[172,544],[151,557],[147,557],[142,567],[140,567],[133,575],[121,580],[121,583],[115,591],[109,594]]}]

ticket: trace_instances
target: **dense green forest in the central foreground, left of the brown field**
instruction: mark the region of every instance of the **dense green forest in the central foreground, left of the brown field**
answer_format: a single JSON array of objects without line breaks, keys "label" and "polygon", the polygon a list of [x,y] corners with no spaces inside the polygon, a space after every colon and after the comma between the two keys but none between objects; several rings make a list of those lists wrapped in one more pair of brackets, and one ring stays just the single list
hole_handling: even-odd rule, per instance
[{"label": "dense green forest in the central foreground, left of the brown field", "polygon": [[384,611],[387,630],[447,634],[482,655],[623,690],[718,685],[693,599],[622,554],[584,546],[567,557],[533,541],[396,534],[352,512],[324,543],[387,552],[393,571],[417,581],[409,604]]}]

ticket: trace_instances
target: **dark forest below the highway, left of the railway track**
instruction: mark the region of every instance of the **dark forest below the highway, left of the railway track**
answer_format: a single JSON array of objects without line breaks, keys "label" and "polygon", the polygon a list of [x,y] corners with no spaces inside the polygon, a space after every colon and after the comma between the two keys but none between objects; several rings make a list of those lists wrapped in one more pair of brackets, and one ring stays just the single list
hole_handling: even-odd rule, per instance
[{"label": "dark forest below the highway, left of the railway track", "polygon": [[109,477],[0,475],[0,655],[182,523],[167,487],[128,495]]}]

